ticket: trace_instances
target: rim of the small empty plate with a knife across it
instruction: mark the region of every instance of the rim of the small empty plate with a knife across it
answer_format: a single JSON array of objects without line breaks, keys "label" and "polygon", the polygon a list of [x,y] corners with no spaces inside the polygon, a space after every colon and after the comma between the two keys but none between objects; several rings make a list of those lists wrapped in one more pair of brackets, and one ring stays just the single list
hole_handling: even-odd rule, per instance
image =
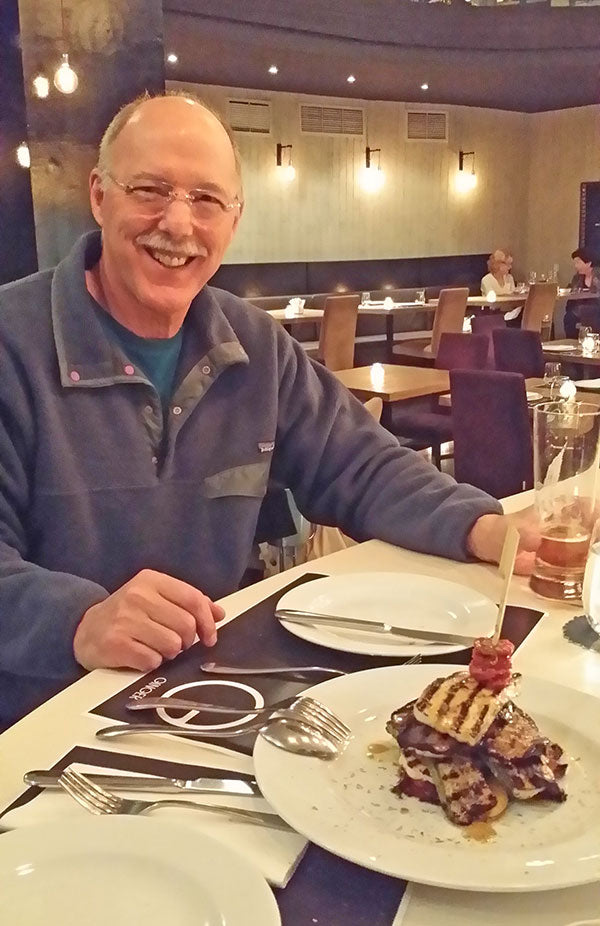
[{"label": "rim of the small empty plate with a knife across it", "polygon": [[[488,598],[487,595],[484,595],[481,592],[478,592],[476,589],[470,588],[468,585],[463,585],[460,582],[452,582],[450,579],[443,579],[437,576],[426,575],[425,573],[413,573],[413,572],[354,572],[350,574],[345,573],[334,573],[329,576],[322,576],[319,579],[313,579],[310,582],[305,582],[301,585],[296,585],[294,588],[286,592],[278,600],[275,609],[279,607],[291,607],[296,608],[298,604],[290,603],[293,602],[294,596],[298,593],[302,594],[303,592],[308,593],[311,589],[320,587],[319,583],[324,584],[330,580],[335,580],[335,582],[347,582],[347,581],[357,581],[364,580],[370,582],[381,581],[381,577],[385,576],[386,579],[393,577],[395,580],[401,581],[403,578],[409,578],[411,580],[423,580],[430,584],[435,582],[437,585],[444,585],[450,590],[453,587],[457,593],[468,593],[474,598],[485,600],[489,602],[490,605],[490,621],[491,628],[493,629],[494,619],[497,612],[497,605],[492,601],[491,598]],[[286,599],[288,599],[286,601]],[[300,605],[300,607],[304,607]],[[324,611],[323,613],[326,613]],[[419,652],[419,649],[424,649],[428,656],[446,656],[450,653],[460,653],[463,652],[468,647],[462,645],[455,645],[450,643],[444,644],[429,644],[423,643],[422,641],[415,640],[413,642],[400,641],[394,643],[393,640],[388,640],[386,637],[382,637],[381,643],[373,641],[372,638],[367,640],[361,640],[360,638],[356,639],[356,642],[352,642],[350,645],[349,637],[341,637],[328,631],[325,627],[313,627],[310,625],[304,624],[292,624],[289,621],[286,621],[285,618],[278,618],[281,626],[289,631],[289,633],[294,634],[294,636],[299,637],[301,640],[306,640],[308,643],[316,643],[318,646],[325,646],[328,649],[337,650],[343,653],[357,653],[362,656],[389,656],[389,657],[398,657],[398,658],[409,658],[414,656],[415,653]],[[460,628],[457,626],[456,632],[460,633]],[[482,629],[482,634],[484,630]]]}]

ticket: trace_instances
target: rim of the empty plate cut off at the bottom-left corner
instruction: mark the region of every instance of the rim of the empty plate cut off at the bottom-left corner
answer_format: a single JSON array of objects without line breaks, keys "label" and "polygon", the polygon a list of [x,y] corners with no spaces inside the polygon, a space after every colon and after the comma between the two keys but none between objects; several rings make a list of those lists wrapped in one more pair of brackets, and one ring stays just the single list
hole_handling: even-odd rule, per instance
[{"label": "rim of the empty plate cut off at the bottom-left corner", "polygon": [[[14,865],[19,853],[24,853],[28,861],[34,856],[48,859],[52,853],[55,860],[61,847],[72,856],[74,847],[81,851],[100,851],[118,845],[119,852],[129,847],[138,858],[164,862],[169,840],[177,847],[176,857],[169,858],[170,866],[180,868],[190,878],[198,878],[201,864],[203,870],[209,865],[215,873],[226,870],[228,877],[230,873],[235,877],[239,892],[231,891],[229,884],[219,886],[214,878],[211,879],[216,891],[212,899],[219,908],[223,926],[281,926],[273,892],[251,861],[213,836],[182,824],[159,821],[156,817],[106,815],[82,820],[57,819],[11,830],[0,840],[0,885],[9,884],[8,879],[14,877],[10,870],[11,857]],[[208,880],[204,879],[204,883]],[[198,886],[200,888],[199,881]],[[4,895],[5,909],[6,903]],[[252,910],[251,920],[248,919],[249,910]],[[53,922],[48,919],[48,926]]]}]

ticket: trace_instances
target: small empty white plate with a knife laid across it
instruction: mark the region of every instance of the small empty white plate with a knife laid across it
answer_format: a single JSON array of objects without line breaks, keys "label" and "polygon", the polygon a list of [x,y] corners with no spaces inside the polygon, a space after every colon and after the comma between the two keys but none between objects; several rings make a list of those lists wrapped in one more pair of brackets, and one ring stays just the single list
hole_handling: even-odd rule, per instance
[{"label": "small empty white plate with a knife laid across it", "polygon": [[[410,572],[325,576],[293,588],[279,599],[277,607],[473,637],[491,634],[498,610],[491,599],[472,588]],[[310,643],[368,656],[413,656],[423,647],[427,648],[428,655],[437,656],[464,649],[464,646],[438,646],[380,633],[303,626],[286,622],[285,618],[281,619],[281,624]]]}]

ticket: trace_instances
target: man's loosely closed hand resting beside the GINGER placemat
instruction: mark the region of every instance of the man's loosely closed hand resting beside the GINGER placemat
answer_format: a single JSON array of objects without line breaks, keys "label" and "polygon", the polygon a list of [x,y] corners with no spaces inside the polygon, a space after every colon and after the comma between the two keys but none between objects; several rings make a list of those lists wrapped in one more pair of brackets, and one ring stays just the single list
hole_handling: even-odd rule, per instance
[{"label": "man's loosely closed hand resting beside the GINGER placemat", "polygon": [[157,669],[188,649],[196,634],[205,646],[217,642],[215,621],[225,616],[193,585],[144,569],[83,615],[73,652],[84,669]]}]

